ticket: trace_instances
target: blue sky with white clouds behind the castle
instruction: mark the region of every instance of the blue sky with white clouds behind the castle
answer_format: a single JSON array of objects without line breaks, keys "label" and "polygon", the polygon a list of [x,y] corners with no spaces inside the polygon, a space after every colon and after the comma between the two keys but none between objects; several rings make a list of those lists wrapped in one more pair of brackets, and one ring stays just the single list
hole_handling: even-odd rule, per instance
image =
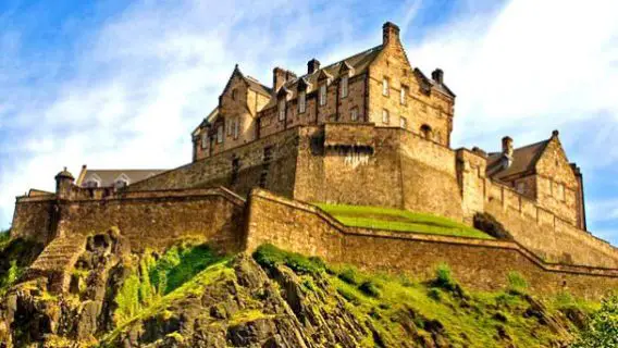
[{"label": "blue sky with white clouds behind the castle", "polygon": [[559,129],[589,229],[618,245],[618,1],[0,1],[0,228],[67,166],[170,169],[234,65],[272,82],[381,44],[457,95],[454,148]]}]

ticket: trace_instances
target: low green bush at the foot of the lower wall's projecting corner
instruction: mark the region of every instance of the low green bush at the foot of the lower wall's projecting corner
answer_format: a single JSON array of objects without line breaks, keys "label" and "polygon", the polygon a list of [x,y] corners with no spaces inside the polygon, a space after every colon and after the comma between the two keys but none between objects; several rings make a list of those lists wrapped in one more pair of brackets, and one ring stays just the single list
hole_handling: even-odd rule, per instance
[{"label": "low green bush at the foot of the lower wall's projecting corner", "polygon": [[313,274],[325,270],[324,261],[320,258],[307,258],[297,252],[284,251],[271,244],[258,247],[254,252],[254,259],[265,269],[274,269],[283,264],[300,274]]}]

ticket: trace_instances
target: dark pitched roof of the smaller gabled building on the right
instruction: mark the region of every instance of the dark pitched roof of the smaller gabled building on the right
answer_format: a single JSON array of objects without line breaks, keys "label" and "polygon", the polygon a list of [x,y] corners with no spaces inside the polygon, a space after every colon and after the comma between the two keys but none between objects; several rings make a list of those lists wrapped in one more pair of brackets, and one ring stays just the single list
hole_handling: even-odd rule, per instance
[{"label": "dark pitched roof of the smaller gabled building on the right", "polygon": [[512,150],[512,162],[508,167],[503,166],[503,153],[492,152],[487,156],[486,174],[493,178],[504,179],[511,175],[534,171],[536,162],[549,144],[551,139],[527,145]]}]

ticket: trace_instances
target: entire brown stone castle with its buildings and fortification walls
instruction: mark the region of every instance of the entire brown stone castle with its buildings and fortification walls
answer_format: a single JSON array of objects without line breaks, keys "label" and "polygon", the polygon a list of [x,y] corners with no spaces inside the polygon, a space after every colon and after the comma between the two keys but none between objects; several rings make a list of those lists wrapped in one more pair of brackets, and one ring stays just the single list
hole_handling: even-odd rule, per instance
[{"label": "entire brown stone castle with its buildings and fortification walls", "polygon": [[[87,235],[115,227],[132,248],[196,237],[226,251],[271,243],[362,268],[427,274],[449,263],[464,284],[600,296],[618,287],[618,252],[586,232],[583,182],[555,130],[516,148],[452,149],[455,94],[442,70],[413,69],[399,28],[380,46],[272,86],[236,66],[218,107],[191,133],[193,161],[131,185],[84,185],[67,171],[55,192],[17,197],[12,236],[48,246],[30,276],[57,290]],[[127,184],[127,183],[125,183]],[[126,186],[126,187],[125,187]],[[312,202],[398,208],[472,224],[494,215],[514,240],[345,226]]]}]

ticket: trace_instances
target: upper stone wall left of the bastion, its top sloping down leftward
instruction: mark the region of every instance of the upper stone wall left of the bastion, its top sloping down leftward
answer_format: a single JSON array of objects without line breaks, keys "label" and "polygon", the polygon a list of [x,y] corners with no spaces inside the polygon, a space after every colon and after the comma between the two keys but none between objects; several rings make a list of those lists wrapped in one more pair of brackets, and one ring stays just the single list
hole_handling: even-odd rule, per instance
[{"label": "upper stone wall left of the bastion, its top sloping down leftward", "polygon": [[[225,186],[239,195],[247,195],[252,187],[260,186],[263,176],[264,188],[292,197],[298,133],[299,127],[295,127],[260,138],[135,183],[128,190]],[[270,153],[268,167],[264,166],[265,152]]]}]

